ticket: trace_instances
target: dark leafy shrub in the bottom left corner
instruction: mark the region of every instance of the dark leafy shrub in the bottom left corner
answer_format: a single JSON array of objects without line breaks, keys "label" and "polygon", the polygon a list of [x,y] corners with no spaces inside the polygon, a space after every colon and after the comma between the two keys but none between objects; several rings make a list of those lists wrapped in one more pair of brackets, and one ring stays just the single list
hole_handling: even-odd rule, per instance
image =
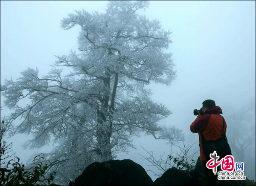
[{"label": "dark leafy shrub in the bottom left corner", "polygon": [[[35,156],[32,166],[29,169],[23,164],[20,164],[20,158],[14,157],[14,159],[6,162],[6,159],[12,157],[8,155],[9,151],[12,148],[12,143],[7,145],[6,141],[3,140],[4,135],[6,134],[7,126],[4,121],[1,125],[1,168],[0,168],[0,185],[1,186],[38,186],[38,185],[55,185],[52,183],[54,179],[55,172],[49,174],[45,177],[47,173],[48,166],[47,164],[43,165],[42,160],[44,157]],[[3,167],[4,166],[4,167]],[[11,169],[9,167],[11,166]],[[3,168],[2,168],[3,167]]]}]

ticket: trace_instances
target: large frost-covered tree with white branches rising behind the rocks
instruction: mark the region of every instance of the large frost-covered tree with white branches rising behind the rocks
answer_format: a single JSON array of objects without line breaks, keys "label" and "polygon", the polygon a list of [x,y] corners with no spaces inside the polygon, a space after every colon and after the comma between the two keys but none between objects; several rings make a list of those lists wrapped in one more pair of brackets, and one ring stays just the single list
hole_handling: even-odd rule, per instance
[{"label": "large frost-covered tree with white branches rising behind the rocks", "polygon": [[[15,112],[5,118],[13,132],[33,134],[26,147],[58,146],[47,154],[56,177],[73,180],[93,161],[113,159],[134,147],[131,137],[141,132],[170,143],[183,140],[181,130],[160,126],[171,111],[150,99],[149,83],[170,85],[175,79],[169,31],[158,20],[137,10],[148,1],[109,1],[106,13],[76,11],[61,20],[63,29],[81,26],[79,53],[57,56],[55,68],[38,77],[38,70],[5,80],[5,106]],[[58,66],[71,67],[61,75]],[[56,68],[57,67],[57,68]],[[31,103],[18,106],[20,100]],[[14,121],[22,122],[14,126]]]}]

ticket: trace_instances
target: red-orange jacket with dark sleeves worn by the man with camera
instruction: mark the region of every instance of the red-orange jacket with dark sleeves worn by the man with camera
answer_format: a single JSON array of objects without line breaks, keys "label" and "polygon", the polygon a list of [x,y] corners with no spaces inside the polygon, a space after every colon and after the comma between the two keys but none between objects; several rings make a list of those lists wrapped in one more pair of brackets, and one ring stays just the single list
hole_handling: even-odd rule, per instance
[{"label": "red-orange jacket with dark sleeves worn by the man with camera", "polygon": [[[198,115],[195,121],[191,124],[190,130],[193,133],[199,135],[199,146],[200,146],[200,160],[207,161],[204,151],[202,148],[201,134],[203,132],[206,141],[218,140],[223,134],[223,119],[222,110],[219,106],[212,106],[204,112],[204,115]],[[224,132],[227,131],[227,123],[224,121]]]}]

